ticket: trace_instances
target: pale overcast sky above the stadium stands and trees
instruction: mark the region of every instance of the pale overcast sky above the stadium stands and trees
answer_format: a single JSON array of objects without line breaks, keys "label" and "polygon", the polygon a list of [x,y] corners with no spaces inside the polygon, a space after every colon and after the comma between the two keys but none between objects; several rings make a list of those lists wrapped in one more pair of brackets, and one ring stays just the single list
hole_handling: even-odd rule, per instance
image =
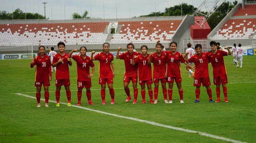
[{"label": "pale overcast sky above the stadium stands and trees", "polygon": [[39,13],[44,16],[44,2],[47,3],[46,17],[50,20],[60,20],[71,19],[75,12],[82,15],[86,10],[89,12],[88,16],[94,18],[131,18],[151,12],[164,12],[166,7],[181,3],[198,8],[204,0],[1,0],[0,10],[12,13],[19,8],[23,12]]}]

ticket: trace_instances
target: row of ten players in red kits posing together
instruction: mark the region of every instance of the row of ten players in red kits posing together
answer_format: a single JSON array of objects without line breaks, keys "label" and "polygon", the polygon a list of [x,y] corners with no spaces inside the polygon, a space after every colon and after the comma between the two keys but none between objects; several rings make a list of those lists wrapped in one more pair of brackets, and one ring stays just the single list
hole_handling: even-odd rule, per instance
[{"label": "row of ten players in red kits posing together", "polygon": [[[189,43],[190,44],[190,43]],[[52,67],[56,67],[56,76],[55,76],[55,97],[56,97],[56,106],[60,106],[60,89],[64,85],[66,90],[66,95],[68,99],[68,106],[71,106],[71,91],[70,91],[70,75],[69,75],[69,66],[72,66],[71,58],[77,63],[77,105],[81,105],[81,96],[82,89],[86,88],[86,95],[88,99],[88,104],[94,105],[91,99],[91,77],[94,75],[95,67],[94,60],[99,61],[99,84],[101,85],[101,99],[102,104],[105,104],[105,88],[108,84],[111,104],[115,104],[115,92],[113,89],[113,78],[115,77],[115,66],[114,66],[114,56],[109,52],[110,44],[103,44],[103,51],[99,52],[95,56],[95,51],[92,51],[91,57],[86,55],[87,48],[85,46],[80,47],[79,55],[72,55],[73,52],[77,49],[72,50],[69,54],[65,53],[65,43],[59,42],[58,53],[53,53],[49,55],[51,58],[46,55],[46,50],[44,46],[39,46],[39,55],[37,55],[30,64],[30,67],[33,68],[36,65],[36,76],[35,76],[35,87],[36,87],[36,99],[37,107],[40,107],[40,97],[41,97],[41,87],[44,85],[45,91],[45,106],[49,107],[49,86],[50,81],[52,80]],[[228,47],[225,49],[228,52],[223,51],[222,49],[217,49],[217,43],[215,41],[210,42],[211,52],[202,52],[201,44],[195,46],[196,54],[191,53],[189,50],[186,51],[185,56],[176,51],[177,43],[171,42],[169,44],[170,51],[162,51],[163,46],[160,41],[156,44],[156,52],[147,53],[147,46],[141,46],[141,53],[134,51],[134,45],[132,43],[127,44],[127,52],[119,54],[121,47],[117,50],[116,59],[124,60],[125,73],[123,78],[124,91],[127,95],[125,102],[129,102],[132,97],[130,95],[129,83],[132,81],[133,84],[133,93],[134,100],[133,104],[137,103],[138,89],[137,89],[137,79],[139,76],[139,84],[141,86],[141,97],[142,103],[146,103],[145,100],[145,84],[147,86],[148,95],[150,96],[150,103],[158,102],[158,90],[159,90],[159,81],[161,81],[161,87],[164,97],[164,103],[173,103],[173,85],[174,81],[177,84],[178,92],[180,96],[180,103],[183,101],[183,89],[182,89],[182,78],[180,71],[180,63],[184,63],[190,69],[194,69],[194,86],[196,87],[196,100],[195,103],[200,102],[200,87],[201,84],[206,87],[207,94],[209,96],[209,102],[214,102],[212,100],[212,92],[210,89],[210,79],[208,71],[208,63],[211,63],[213,68],[214,75],[214,84],[216,85],[216,94],[217,101],[220,102],[220,84],[222,84],[224,101],[227,100],[227,73],[225,69],[225,63],[223,56],[230,55],[231,51]],[[53,49],[52,49],[53,51]],[[153,63],[153,79],[152,80],[152,68],[151,63]],[[190,63],[194,63],[195,67],[191,66]],[[90,67],[92,72],[90,73]],[[145,74],[146,73],[146,74]],[[154,100],[153,100],[153,90],[152,83],[154,82]],[[168,90],[166,88],[166,82],[168,83]],[[167,94],[168,99],[167,100]]]}]

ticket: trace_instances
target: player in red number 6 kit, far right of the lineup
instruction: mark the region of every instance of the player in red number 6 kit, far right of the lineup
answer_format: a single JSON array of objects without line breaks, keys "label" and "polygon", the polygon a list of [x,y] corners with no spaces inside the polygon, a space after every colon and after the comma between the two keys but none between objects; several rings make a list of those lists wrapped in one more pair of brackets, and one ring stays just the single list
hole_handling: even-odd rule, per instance
[{"label": "player in red number 6 kit, far right of the lineup", "polygon": [[224,99],[225,102],[228,102],[227,100],[227,72],[226,67],[224,63],[223,56],[231,55],[231,51],[228,47],[225,47],[225,49],[228,50],[228,52],[223,50],[217,50],[217,43],[215,41],[210,42],[211,50],[212,52],[209,52],[209,61],[211,63],[211,66],[213,68],[213,74],[214,74],[214,84],[216,85],[216,94],[217,94],[217,101],[220,102],[220,84],[222,84],[222,89],[224,93]]}]

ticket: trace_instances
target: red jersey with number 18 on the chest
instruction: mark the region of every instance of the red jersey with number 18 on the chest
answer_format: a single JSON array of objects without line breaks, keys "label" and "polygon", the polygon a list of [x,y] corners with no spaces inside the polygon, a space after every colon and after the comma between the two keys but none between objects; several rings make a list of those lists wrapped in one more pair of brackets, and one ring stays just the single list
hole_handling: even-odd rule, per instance
[{"label": "red jersey with number 18 on the chest", "polygon": [[180,52],[167,51],[168,77],[181,77],[180,63],[186,62]]}]

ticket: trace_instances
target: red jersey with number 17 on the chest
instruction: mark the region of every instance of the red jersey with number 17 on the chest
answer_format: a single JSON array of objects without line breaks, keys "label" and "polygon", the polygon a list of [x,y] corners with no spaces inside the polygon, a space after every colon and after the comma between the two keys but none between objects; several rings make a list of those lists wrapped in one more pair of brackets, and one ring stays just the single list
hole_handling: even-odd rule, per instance
[{"label": "red jersey with number 17 on the chest", "polygon": [[137,56],[137,58],[134,60],[135,64],[138,63],[138,69],[139,69],[139,80],[151,80],[152,79],[152,71],[151,71],[151,64],[147,64],[149,54],[147,54],[145,57],[140,54]]}]

